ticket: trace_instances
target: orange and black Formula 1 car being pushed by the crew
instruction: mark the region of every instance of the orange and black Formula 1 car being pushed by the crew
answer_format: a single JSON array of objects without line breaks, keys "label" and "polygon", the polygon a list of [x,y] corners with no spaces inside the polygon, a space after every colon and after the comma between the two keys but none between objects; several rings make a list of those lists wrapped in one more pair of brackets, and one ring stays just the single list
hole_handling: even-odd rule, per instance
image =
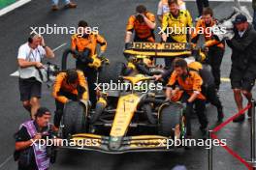
[{"label": "orange and black Formula 1 car being pushed by the crew", "polygon": [[[89,100],[65,105],[59,136],[68,145],[61,147],[110,154],[174,149],[168,141],[186,137],[184,106],[165,99],[165,87],[152,76],[164,69],[154,62],[194,53],[189,43],[131,43],[124,51],[127,64],[108,62],[98,68],[95,108]],[[196,54],[200,61],[206,57],[200,50]],[[145,72],[137,68],[141,62]],[[118,88],[106,88],[112,83]]]}]

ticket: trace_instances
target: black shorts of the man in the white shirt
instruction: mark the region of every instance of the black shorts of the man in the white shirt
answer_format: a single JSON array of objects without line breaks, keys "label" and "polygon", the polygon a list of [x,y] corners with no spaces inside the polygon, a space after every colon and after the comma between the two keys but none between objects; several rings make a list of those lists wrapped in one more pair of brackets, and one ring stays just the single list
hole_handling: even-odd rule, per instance
[{"label": "black shorts of the man in the white shirt", "polygon": [[31,98],[41,98],[42,83],[35,78],[18,79],[20,100],[26,101]]}]

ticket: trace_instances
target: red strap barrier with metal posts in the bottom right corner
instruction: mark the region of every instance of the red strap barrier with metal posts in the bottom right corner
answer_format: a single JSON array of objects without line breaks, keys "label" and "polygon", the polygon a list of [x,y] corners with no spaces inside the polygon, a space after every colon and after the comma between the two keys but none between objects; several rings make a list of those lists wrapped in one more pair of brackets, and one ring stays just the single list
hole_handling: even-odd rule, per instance
[{"label": "red strap barrier with metal posts in the bottom right corner", "polygon": [[[215,134],[217,131],[219,131],[221,128],[224,128],[229,123],[231,123],[234,119],[238,118],[240,115],[244,114],[246,110],[251,108],[251,130],[250,130],[250,142],[251,142],[251,153],[250,153],[250,160],[246,161],[244,158],[239,156],[237,153],[235,153],[232,149],[230,149],[228,146],[225,146],[221,143],[221,141],[218,139],[217,135]],[[218,140],[220,146],[222,146],[230,155],[237,158],[244,166],[246,166],[249,170],[256,170],[256,115],[255,115],[255,100],[251,100],[251,102],[242,110],[240,110],[239,113],[229,118],[227,121],[223,122],[216,128],[213,128],[208,131],[208,138],[209,139],[216,139]],[[213,170],[213,147],[211,147],[208,150],[208,170]]]}]

